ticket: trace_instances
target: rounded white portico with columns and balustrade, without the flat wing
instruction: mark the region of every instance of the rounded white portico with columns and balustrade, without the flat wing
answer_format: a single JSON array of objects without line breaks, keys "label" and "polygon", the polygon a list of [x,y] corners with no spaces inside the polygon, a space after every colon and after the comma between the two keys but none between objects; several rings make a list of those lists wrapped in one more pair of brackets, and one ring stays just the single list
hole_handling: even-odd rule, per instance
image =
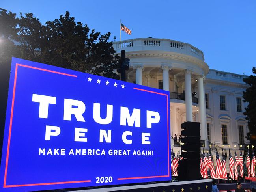
[{"label": "rounded white portico with columns and balustrade, without the flat wing", "polygon": [[[128,82],[170,91],[172,135],[180,134],[180,124],[184,121],[198,121],[201,140],[206,141],[203,81],[209,67],[203,52],[188,43],[170,39],[131,39],[114,42],[113,46],[118,54],[125,50],[130,59]],[[192,94],[195,92],[198,94]]]}]

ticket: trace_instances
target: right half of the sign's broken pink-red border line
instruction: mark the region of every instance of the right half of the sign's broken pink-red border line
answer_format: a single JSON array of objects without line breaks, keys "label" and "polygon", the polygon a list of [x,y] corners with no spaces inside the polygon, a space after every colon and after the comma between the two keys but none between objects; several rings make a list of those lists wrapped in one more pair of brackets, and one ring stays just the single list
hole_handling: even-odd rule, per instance
[{"label": "right half of the sign's broken pink-red border line", "polygon": [[169,104],[169,102],[168,102],[168,95],[166,95],[164,93],[158,93],[158,92],[155,92],[155,91],[148,91],[148,90],[145,90],[145,89],[139,89],[139,88],[133,88],[133,89],[166,96],[166,106],[167,106],[167,142],[168,142],[168,151],[167,151],[167,153],[168,153],[168,175],[157,175],[157,176],[148,176],[148,177],[127,177],[127,178],[118,178],[117,180],[170,177],[170,162],[169,162],[169,113],[168,113],[168,104]]}]

